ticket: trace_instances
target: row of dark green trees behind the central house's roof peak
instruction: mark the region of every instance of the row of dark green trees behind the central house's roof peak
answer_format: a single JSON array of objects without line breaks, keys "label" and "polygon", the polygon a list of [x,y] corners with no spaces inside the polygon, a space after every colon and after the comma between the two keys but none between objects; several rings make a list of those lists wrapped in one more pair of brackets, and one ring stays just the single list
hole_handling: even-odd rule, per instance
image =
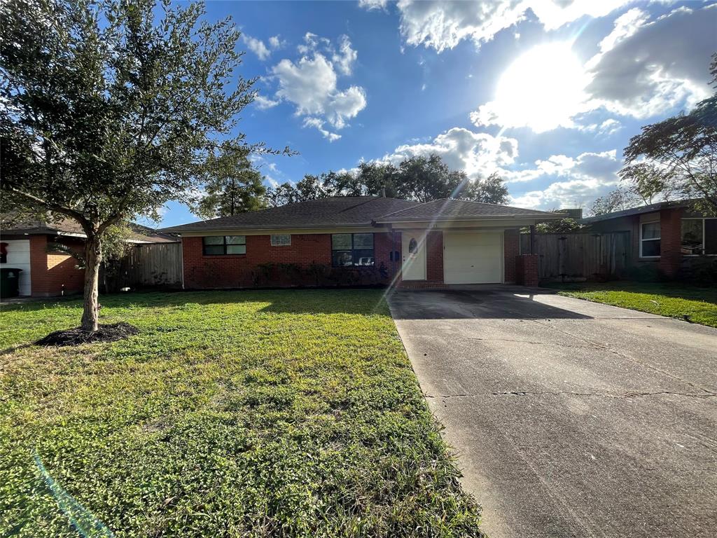
[{"label": "row of dark green trees behind the central house's roof peak", "polygon": [[508,189],[497,173],[472,181],[464,171],[451,170],[438,155],[405,159],[398,166],[363,162],[353,172],[326,172],[304,176],[293,186],[285,183],[270,189],[267,200],[277,206],[328,196],[381,196],[417,202],[454,198],[505,204]]}]

